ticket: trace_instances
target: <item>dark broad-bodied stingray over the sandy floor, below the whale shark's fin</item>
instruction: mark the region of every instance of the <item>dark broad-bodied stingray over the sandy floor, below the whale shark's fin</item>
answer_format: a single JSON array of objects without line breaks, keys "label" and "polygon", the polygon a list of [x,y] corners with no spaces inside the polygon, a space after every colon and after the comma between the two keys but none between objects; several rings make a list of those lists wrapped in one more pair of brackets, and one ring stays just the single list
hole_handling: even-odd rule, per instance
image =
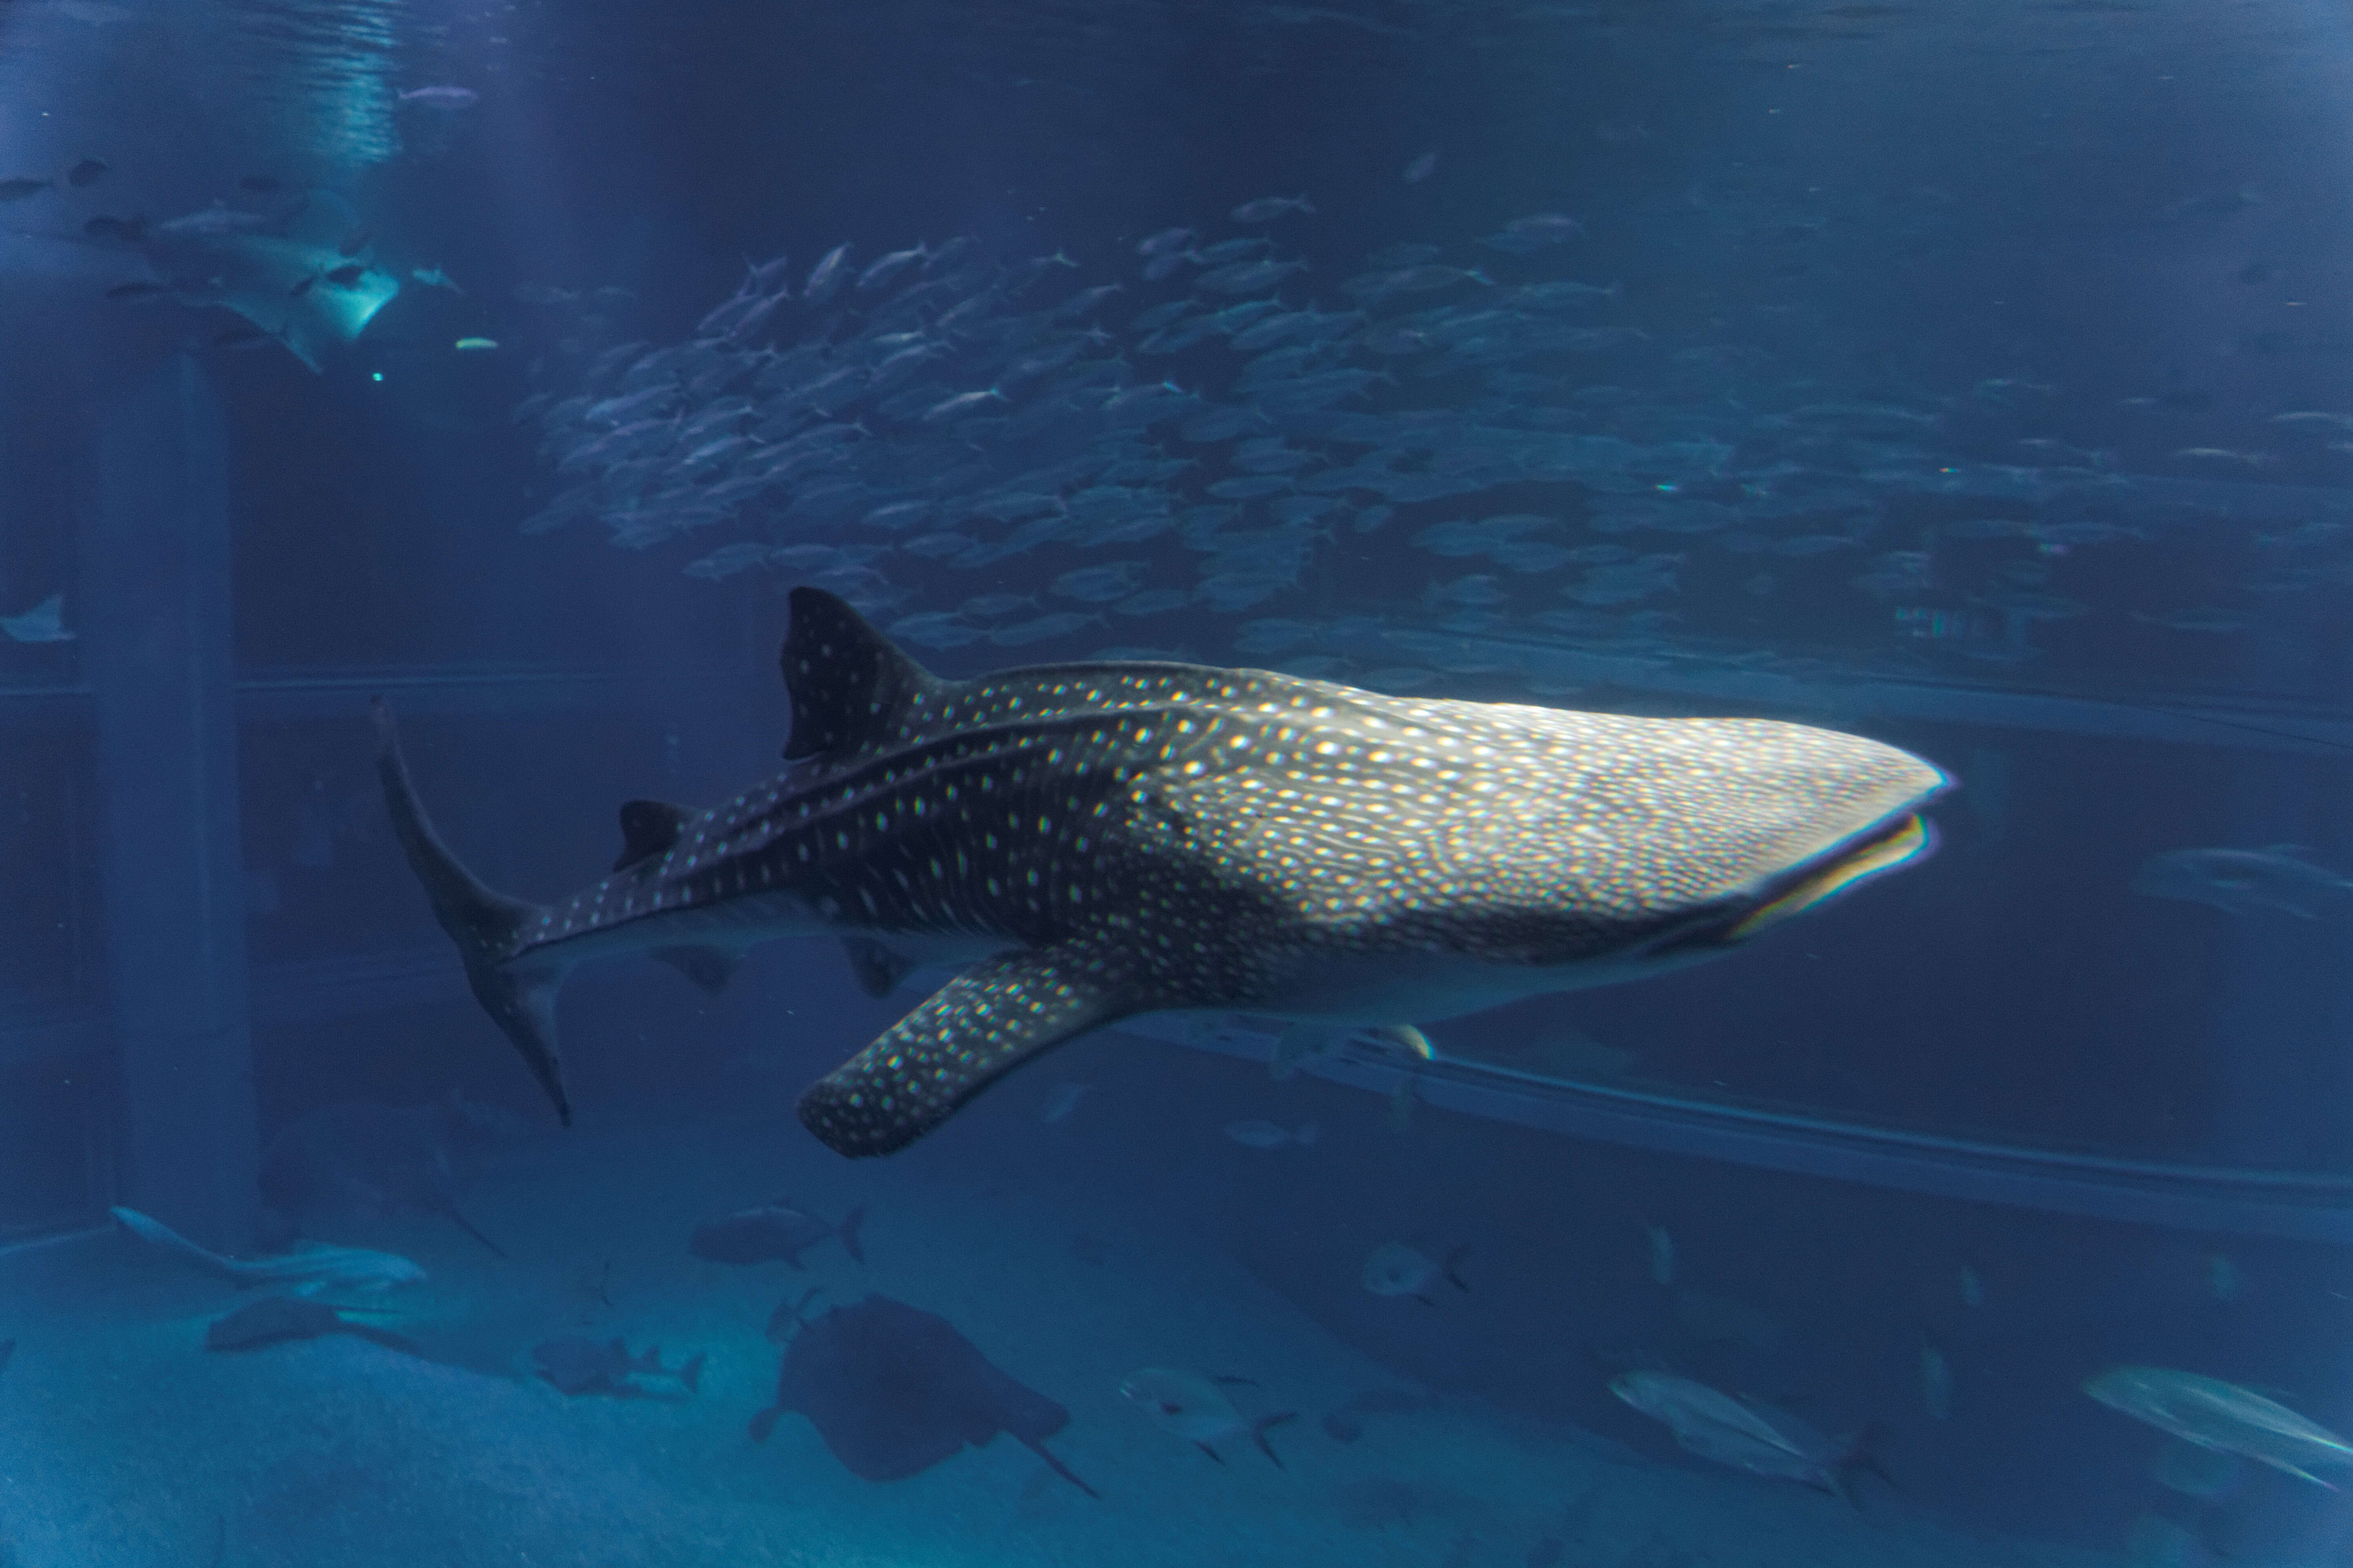
[{"label": "dark broad-bodied stingray over the sandy floor, below the whale shark's fin", "polygon": [[1071,1413],[988,1363],[955,1326],[887,1295],[868,1295],[809,1319],[776,1373],[776,1403],[751,1418],[765,1441],[786,1410],[800,1410],[849,1474],[899,1481],[965,1443],[986,1448],[998,1432],[1101,1497],[1045,1448]]}]

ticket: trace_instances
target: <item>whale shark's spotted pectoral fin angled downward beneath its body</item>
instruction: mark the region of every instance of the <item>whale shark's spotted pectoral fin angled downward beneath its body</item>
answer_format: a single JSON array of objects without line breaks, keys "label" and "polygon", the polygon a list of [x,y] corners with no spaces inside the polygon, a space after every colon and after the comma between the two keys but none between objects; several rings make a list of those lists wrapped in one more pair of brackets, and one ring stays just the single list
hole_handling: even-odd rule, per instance
[{"label": "whale shark's spotted pectoral fin angled downward beneath its body", "polygon": [[1153,1006],[1082,947],[984,959],[809,1084],[800,1121],[835,1154],[889,1154],[1021,1063]]}]

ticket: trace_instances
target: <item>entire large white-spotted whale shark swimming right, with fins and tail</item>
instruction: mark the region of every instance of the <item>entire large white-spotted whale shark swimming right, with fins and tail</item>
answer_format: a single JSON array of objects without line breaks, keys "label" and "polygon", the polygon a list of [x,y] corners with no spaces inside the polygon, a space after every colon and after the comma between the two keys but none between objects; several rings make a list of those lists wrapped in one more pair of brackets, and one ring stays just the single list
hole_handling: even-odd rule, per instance
[{"label": "entire large white-spotted whale shark swimming right, with fins and tail", "polygon": [[[1391,698],[1264,670],[929,675],[798,588],[795,766],[708,811],[621,806],[555,907],[433,832],[376,705],[393,827],[475,997],[567,1121],[555,990],[652,950],[720,987],[753,943],[852,938],[878,994],[967,969],[800,1098],[889,1154],[1021,1063],[1162,1009],[1400,1025],[1729,952],[1920,856],[1946,776],[1802,724]],[[894,957],[892,957],[894,954]]]}]

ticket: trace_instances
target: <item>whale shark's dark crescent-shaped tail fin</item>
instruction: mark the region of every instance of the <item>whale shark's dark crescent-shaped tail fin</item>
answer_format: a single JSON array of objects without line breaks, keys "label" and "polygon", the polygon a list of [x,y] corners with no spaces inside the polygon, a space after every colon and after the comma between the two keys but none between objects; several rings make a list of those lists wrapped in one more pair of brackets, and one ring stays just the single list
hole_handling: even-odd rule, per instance
[{"label": "whale shark's dark crescent-shaped tail fin", "polygon": [[409,764],[400,757],[393,710],[384,705],[384,698],[374,698],[369,710],[376,719],[376,778],[384,780],[384,804],[393,813],[393,832],[400,835],[400,849],[409,856],[409,870],[426,886],[433,919],[456,943],[473,999],[482,1004],[492,1023],[506,1030],[532,1077],[555,1103],[555,1114],[562,1117],[565,1126],[572,1126],[565,1065],[555,1053],[555,987],[562,985],[565,971],[548,964],[506,961],[515,938],[546,910],[489,891],[449,853],[449,846],[433,832],[426,809],[416,802]]}]

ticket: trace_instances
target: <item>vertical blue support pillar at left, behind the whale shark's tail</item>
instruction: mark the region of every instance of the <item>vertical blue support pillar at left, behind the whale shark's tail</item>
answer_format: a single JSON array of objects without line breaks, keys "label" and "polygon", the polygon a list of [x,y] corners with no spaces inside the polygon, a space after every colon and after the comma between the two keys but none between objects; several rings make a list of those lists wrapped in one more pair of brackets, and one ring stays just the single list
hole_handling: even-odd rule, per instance
[{"label": "vertical blue support pillar at left, behind the whale shark's tail", "polygon": [[89,491],[80,635],[99,731],[122,1201],[240,1251],[254,1237],[259,1154],[228,454],[193,357],[174,355],[101,414]]}]

